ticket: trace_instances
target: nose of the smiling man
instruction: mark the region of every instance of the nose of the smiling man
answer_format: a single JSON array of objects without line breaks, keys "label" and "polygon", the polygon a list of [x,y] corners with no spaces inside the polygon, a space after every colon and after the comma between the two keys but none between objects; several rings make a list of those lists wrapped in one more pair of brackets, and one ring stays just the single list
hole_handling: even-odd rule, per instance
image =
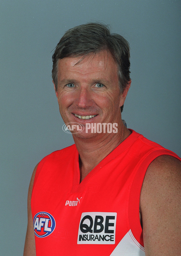
[{"label": "nose of the smiling man", "polygon": [[87,88],[80,88],[77,92],[76,105],[78,107],[90,107],[93,104],[91,92]]}]

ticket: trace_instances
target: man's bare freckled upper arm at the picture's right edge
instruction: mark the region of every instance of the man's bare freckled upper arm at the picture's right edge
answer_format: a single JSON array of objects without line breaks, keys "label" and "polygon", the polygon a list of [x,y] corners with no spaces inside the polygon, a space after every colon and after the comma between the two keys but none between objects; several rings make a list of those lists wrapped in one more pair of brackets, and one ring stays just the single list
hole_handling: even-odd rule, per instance
[{"label": "man's bare freckled upper arm at the picture's right edge", "polygon": [[181,163],[168,155],[148,167],[140,195],[143,241],[147,256],[181,252]]}]

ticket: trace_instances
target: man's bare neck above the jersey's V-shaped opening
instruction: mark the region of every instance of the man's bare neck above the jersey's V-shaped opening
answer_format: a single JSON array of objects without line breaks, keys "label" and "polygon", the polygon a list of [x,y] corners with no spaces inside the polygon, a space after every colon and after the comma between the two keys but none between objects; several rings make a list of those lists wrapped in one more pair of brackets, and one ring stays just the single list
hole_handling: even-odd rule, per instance
[{"label": "man's bare neck above the jersey's V-shaped opening", "polygon": [[96,133],[94,137],[86,139],[73,136],[79,152],[80,182],[130,134],[131,132],[121,123],[118,133],[105,133],[104,136]]}]

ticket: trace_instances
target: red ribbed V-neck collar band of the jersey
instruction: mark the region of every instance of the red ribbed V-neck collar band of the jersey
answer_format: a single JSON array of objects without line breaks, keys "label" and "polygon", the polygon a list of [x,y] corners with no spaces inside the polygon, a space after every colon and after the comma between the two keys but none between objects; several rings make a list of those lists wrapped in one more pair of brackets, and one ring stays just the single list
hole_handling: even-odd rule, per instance
[{"label": "red ribbed V-neck collar band of the jersey", "polygon": [[75,192],[82,192],[84,187],[86,186],[87,182],[90,178],[99,171],[104,165],[110,162],[112,159],[116,158],[116,156],[120,155],[125,149],[132,145],[132,143],[140,136],[139,133],[136,133],[134,130],[129,129],[132,133],[123,141],[121,142],[109,155],[107,155],[103,160],[96,165],[96,167],[90,171],[89,174],[81,181],[80,183],[80,169],[79,169],[79,153],[76,149],[75,152],[75,159],[74,159],[74,178],[71,193]]}]

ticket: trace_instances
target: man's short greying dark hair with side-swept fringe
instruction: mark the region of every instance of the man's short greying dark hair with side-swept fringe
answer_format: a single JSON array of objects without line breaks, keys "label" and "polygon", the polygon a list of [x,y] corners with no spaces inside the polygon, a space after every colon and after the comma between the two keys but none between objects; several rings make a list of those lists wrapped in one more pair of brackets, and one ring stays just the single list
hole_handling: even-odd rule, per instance
[{"label": "man's short greying dark hair with side-swept fringe", "polygon": [[[52,55],[52,79],[57,90],[58,62],[65,57],[87,56],[107,50],[118,65],[120,92],[130,81],[129,43],[119,34],[110,32],[110,28],[101,23],[87,23],[73,27],[65,32]],[[123,106],[121,107],[122,112]]]}]

